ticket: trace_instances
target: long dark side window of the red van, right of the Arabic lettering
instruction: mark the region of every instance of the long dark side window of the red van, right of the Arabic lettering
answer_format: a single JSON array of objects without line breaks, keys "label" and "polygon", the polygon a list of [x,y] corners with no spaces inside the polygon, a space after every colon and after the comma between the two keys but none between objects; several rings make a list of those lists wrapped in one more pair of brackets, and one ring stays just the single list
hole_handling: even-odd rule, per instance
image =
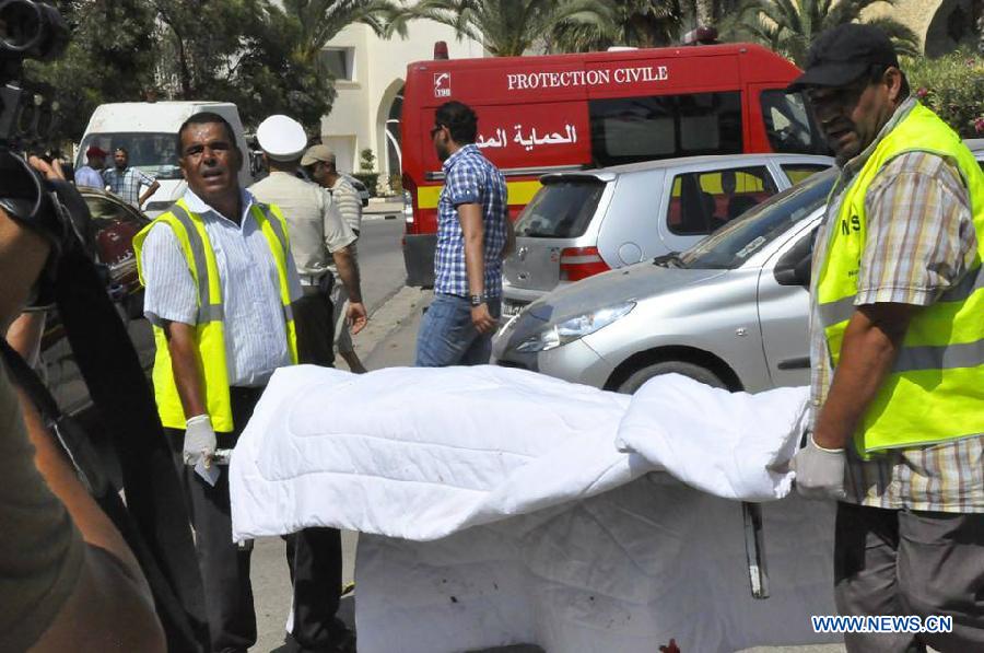
[{"label": "long dark side window of the red van, right of the Arabic lettering", "polygon": [[588,102],[598,165],[741,152],[738,91]]}]

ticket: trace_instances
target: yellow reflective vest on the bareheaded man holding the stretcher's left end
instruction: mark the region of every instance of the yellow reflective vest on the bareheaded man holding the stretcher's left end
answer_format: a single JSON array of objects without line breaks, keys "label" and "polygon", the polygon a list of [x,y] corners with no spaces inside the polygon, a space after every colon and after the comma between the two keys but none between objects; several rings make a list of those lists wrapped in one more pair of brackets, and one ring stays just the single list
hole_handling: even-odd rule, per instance
[{"label": "yellow reflective vest on the bareheaded man holding the stretcher's left end", "polygon": [[[270,254],[280,273],[280,302],[283,306],[286,327],[288,350],[291,362],[297,362],[297,337],[291,313],[291,293],[288,284],[286,261],[291,255],[286,222],[274,206],[253,205],[253,215],[270,246]],[[204,403],[212,420],[212,428],[219,432],[233,430],[232,405],[229,392],[229,368],[225,361],[225,336],[223,324],[222,280],[215,264],[215,252],[209,242],[201,217],[188,209],[184,200],[178,200],[171,210],[159,215],[151,224],[133,236],[133,252],[137,255],[137,270],[141,283],[143,279],[143,241],[157,223],[171,226],[180,244],[188,270],[198,288],[198,324],[195,325],[195,342],[198,347]],[[171,351],[164,329],[154,325],[154,343],[157,352],[154,359],[154,398],[161,423],[171,429],[184,429],[187,418],[181,407],[171,366]]]}]

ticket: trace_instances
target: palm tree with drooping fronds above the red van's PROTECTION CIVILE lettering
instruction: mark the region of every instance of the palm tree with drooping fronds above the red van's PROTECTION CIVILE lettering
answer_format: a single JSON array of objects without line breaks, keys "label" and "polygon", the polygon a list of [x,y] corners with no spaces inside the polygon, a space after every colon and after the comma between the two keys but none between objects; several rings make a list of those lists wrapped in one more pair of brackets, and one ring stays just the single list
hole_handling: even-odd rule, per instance
[{"label": "palm tree with drooping fronds above the red van's PROTECTION CIVILE lettering", "polygon": [[421,0],[401,12],[390,30],[430,19],[454,27],[458,37],[480,42],[496,57],[520,56],[559,25],[611,24],[610,3],[596,0]]}]

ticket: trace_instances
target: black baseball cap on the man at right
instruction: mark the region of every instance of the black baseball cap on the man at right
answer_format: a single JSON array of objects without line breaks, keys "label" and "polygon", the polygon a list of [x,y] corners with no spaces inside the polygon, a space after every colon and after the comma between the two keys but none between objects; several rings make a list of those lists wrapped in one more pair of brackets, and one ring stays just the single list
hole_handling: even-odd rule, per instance
[{"label": "black baseball cap on the man at right", "polygon": [[806,70],[786,88],[844,86],[875,66],[899,68],[895,46],[874,25],[847,23],[824,31],[810,46]]}]

